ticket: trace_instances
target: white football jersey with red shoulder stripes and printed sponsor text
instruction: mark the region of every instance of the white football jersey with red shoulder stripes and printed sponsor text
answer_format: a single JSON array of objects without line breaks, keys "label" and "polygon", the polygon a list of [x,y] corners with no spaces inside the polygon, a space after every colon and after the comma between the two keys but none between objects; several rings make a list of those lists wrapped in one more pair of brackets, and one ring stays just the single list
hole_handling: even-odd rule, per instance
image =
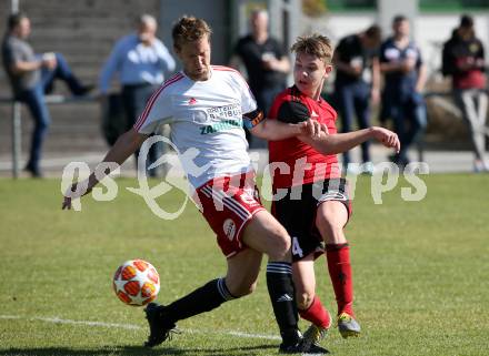
[{"label": "white football jersey with red shoulder stripes and printed sponsor text", "polygon": [[170,124],[171,141],[190,184],[251,170],[242,115],[257,109],[244,79],[233,69],[211,65],[207,81],[183,72],[169,79],[149,100],[134,129],[150,134]]}]

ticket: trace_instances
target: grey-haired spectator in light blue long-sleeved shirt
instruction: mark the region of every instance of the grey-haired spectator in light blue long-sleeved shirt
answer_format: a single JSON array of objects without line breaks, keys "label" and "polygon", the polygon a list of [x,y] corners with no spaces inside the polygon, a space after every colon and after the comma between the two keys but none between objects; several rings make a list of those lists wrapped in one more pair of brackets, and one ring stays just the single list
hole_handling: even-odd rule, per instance
[{"label": "grey-haired spectator in light blue long-sleeved shirt", "polygon": [[[152,93],[163,83],[164,72],[172,72],[176,62],[164,44],[156,37],[157,20],[149,14],[138,19],[136,33],[121,38],[104,63],[99,79],[102,101],[107,104],[107,94],[114,74],[122,85],[122,103],[126,123],[121,132],[130,130],[142,113]],[[147,166],[158,160],[158,144],[149,151]],[[139,150],[136,152],[136,157]],[[149,175],[156,176],[157,170]]]}]

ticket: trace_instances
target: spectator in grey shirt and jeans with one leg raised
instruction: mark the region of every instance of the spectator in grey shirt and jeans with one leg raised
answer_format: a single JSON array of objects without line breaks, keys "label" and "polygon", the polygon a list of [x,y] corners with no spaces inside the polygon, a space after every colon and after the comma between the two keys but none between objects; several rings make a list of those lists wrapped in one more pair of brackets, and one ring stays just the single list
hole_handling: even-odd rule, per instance
[{"label": "spectator in grey shirt and jeans with one leg raised", "polygon": [[27,42],[31,27],[24,13],[11,14],[7,26],[2,43],[3,67],[13,98],[27,104],[36,122],[26,171],[34,177],[40,177],[42,143],[51,121],[44,94],[53,90],[56,79],[63,80],[73,95],[86,94],[90,87],[81,84],[61,53],[34,53]]}]

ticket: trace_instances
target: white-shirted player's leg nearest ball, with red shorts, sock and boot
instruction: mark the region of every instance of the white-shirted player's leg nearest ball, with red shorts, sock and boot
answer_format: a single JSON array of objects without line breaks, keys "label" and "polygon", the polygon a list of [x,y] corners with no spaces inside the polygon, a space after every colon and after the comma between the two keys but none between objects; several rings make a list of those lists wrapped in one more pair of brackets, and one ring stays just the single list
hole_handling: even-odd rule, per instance
[{"label": "white-shirted player's leg nearest ball, with red shorts, sock and boot", "polygon": [[[167,306],[149,304],[146,308],[150,325],[150,336],[146,345],[149,347],[164,342],[178,321],[212,311],[255,288],[261,253],[242,245],[241,231],[253,216],[253,208],[259,211],[263,207],[258,202],[250,207],[234,196],[224,195],[222,199],[221,194],[222,191],[218,187],[207,184],[198,190],[201,212],[216,232],[222,253],[228,257],[228,274],[208,282]],[[223,231],[222,226],[228,222],[232,222],[233,228]]]}]

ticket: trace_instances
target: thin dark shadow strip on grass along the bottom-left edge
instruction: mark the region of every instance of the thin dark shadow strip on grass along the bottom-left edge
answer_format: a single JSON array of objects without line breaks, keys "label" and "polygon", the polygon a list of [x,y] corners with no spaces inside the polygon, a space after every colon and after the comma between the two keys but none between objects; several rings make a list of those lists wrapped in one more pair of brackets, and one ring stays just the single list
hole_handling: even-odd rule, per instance
[{"label": "thin dark shadow strip on grass along the bottom-left edge", "polygon": [[174,348],[157,347],[146,348],[142,346],[113,346],[90,349],[73,349],[68,347],[39,347],[39,348],[9,348],[0,349],[0,356],[106,356],[106,355],[178,355],[178,356],[253,356],[255,352],[277,349],[278,345],[253,345],[231,348]]}]

